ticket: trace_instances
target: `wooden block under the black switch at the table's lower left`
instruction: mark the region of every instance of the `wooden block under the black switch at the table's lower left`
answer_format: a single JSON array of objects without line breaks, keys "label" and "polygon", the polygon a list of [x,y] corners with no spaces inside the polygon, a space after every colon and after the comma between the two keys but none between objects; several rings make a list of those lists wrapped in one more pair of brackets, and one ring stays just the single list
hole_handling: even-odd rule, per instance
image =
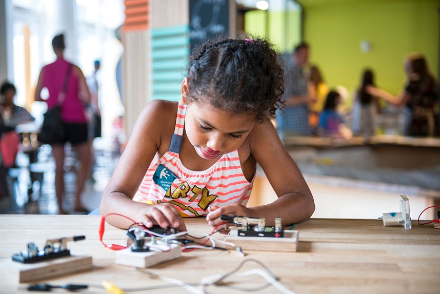
[{"label": "wooden block under the black switch at the table's lower left", "polygon": [[0,276],[17,283],[45,280],[91,268],[91,256],[72,255],[28,264],[12,261],[11,258],[0,260]]}]

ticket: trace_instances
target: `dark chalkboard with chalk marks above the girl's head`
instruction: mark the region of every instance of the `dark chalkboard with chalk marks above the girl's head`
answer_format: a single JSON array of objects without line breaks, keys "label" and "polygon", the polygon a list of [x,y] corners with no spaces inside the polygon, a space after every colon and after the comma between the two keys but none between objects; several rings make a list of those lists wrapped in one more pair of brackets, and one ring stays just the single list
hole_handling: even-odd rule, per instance
[{"label": "dark chalkboard with chalk marks above the girl's head", "polygon": [[229,33],[229,0],[190,0],[191,49],[207,38]]}]

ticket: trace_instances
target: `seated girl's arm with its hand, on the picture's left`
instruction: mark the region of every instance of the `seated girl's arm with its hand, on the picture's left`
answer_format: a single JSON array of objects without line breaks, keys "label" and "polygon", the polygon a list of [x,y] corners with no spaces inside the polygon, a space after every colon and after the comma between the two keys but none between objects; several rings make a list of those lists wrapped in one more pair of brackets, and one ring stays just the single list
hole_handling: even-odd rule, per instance
[{"label": "seated girl's arm with its hand, on the picture's left", "polygon": [[[177,110],[174,107],[175,111],[172,111],[163,104],[164,102],[161,101],[152,101],[139,114],[127,147],[104,190],[99,211],[101,215],[110,212],[123,214],[136,222],[144,223],[147,227],[157,223],[162,227],[171,226],[184,231],[183,219],[171,204],[149,205],[132,200],[161,146],[166,130],[164,120],[169,117],[167,113],[170,111],[174,113]],[[109,215],[106,220],[120,228],[127,228],[132,224],[127,219],[114,215]]]}]

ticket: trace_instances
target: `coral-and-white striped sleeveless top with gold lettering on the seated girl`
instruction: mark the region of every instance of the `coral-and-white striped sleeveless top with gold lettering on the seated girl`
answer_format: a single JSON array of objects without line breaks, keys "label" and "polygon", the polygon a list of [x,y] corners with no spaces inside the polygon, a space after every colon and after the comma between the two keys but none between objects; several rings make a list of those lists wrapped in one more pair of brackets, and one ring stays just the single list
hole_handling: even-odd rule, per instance
[{"label": "coral-and-white striped sleeveless top with gold lettering on the seated girl", "polygon": [[185,113],[186,105],[179,101],[170,148],[158,162],[150,165],[133,200],[152,205],[171,203],[183,217],[207,215],[210,205],[246,205],[255,174],[251,182],[246,180],[238,150],[224,154],[207,170],[193,171],[182,164],[179,151]]}]

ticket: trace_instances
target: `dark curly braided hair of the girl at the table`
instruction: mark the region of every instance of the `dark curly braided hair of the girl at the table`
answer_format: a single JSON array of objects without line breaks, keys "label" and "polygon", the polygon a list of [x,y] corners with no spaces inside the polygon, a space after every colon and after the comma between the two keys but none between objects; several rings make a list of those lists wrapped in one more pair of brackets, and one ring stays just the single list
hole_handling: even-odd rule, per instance
[{"label": "dark curly braided hair of the girl at the table", "polygon": [[189,102],[207,99],[260,123],[284,106],[284,71],[266,38],[207,40],[194,48],[189,64]]}]

